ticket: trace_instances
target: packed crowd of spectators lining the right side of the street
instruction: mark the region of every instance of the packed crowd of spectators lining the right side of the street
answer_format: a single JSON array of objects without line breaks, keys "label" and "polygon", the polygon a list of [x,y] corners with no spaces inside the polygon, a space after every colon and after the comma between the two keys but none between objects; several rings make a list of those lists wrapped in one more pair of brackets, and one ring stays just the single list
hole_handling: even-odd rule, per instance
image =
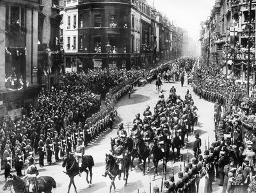
[{"label": "packed crowd of spectators lining the right side of the street", "polygon": [[222,192],[255,192],[255,90],[247,97],[245,84],[225,78],[214,66],[199,66],[193,81],[194,91],[215,103],[216,141],[209,152]]}]

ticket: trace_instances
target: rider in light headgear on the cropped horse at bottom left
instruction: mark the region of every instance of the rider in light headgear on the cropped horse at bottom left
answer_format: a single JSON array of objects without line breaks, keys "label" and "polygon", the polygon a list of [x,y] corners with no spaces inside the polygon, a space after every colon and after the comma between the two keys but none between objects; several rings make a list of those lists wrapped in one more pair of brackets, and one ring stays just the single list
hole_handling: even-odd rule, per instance
[{"label": "rider in light headgear on the cropped horse at bottom left", "polygon": [[34,164],[34,158],[29,156],[27,159],[28,169],[26,179],[26,191],[27,192],[37,192],[36,176],[39,174],[38,170]]}]

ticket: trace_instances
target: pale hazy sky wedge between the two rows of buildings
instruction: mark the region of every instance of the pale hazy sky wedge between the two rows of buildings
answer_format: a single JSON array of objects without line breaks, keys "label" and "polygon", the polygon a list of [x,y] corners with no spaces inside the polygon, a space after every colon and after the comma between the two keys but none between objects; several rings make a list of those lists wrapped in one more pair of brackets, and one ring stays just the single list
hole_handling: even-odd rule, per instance
[{"label": "pale hazy sky wedge between the two rows of buildings", "polygon": [[[152,6],[153,0],[147,0]],[[200,22],[207,20],[215,0],[154,0],[154,7],[170,21],[186,29],[189,36],[199,39]]]}]

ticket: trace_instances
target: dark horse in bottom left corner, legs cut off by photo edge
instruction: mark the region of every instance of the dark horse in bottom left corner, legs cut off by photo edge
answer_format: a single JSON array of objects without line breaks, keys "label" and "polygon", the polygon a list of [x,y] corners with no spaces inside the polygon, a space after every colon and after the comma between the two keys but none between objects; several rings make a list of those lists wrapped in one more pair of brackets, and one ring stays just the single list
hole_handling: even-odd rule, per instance
[{"label": "dark horse in bottom left corner, legs cut off by photo edge", "polygon": [[[52,188],[56,188],[56,182],[51,176],[40,176],[39,178],[37,178],[37,182],[38,190],[33,190],[33,192],[51,193]],[[3,186],[3,190],[6,190],[7,188],[11,190],[12,185],[16,193],[28,193],[26,190],[26,181],[20,179],[18,176],[9,175]]]}]

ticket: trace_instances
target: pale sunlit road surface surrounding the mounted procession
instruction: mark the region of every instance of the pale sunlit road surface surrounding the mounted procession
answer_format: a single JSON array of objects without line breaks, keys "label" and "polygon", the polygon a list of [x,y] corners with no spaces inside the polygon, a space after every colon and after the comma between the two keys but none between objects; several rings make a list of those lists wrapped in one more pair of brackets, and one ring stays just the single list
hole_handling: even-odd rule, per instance
[{"label": "pale sunlit road surface surrounding the mounted procession", "polygon": [[[204,99],[199,99],[198,96],[195,95],[191,85],[185,85],[181,87],[180,82],[177,83],[164,83],[162,85],[163,93],[165,99],[168,97],[169,90],[172,86],[175,86],[177,90],[177,94],[180,95],[182,99],[186,94],[186,91],[189,89],[189,92],[192,95],[193,100],[195,101],[195,105],[198,107],[198,125],[195,125],[195,131],[199,132],[200,138],[202,139],[202,152],[205,150],[205,143],[207,143],[208,147],[208,139],[209,143],[214,141],[214,122],[213,122],[213,109],[214,104]],[[135,118],[136,113],[143,113],[145,107],[148,105],[150,106],[150,110],[152,113],[154,112],[154,106],[156,105],[158,99],[159,91],[156,90],[156,85],[154,82],[151,84],[147,84],[143,87],[134,87],[131,94],[131,99],[128,98],[128,95],[122,97],[120,101],[117,103],[117,112],[118,116],[115,118],[115,124],[113,130],[108,130],[101,134],[99,138],[95,139],[90,146],[86,147],[85,154],[92,155],[95,166],[93,166],[93,177],[92,177],[92,187],[88,186],[86,182],[86,174],[82,173],[81,177],[76,176],[74,181],[76,183],[77,192],[92,192],[92,193],[102,193],[102,192],[109,192],[109,185],[111,180],[109,177],[104,178],[102,174],[105,171],[105,157],[106,154],[110,154],[109,150],[111,149],[110,146],[110,138],[116,137],[116,129],[117,125],[120,122],[124,123],[124,127],[128,130],[131,130],[132,127],[132,120]],[[167,170],[166,170],[166,178],[172,174],[172,167],[175,173],[175,179],[177,179],[177,173],[180,171],[180,166],[182,166],[183,170],[183,159],[185,159],[186,163],[188,159],[193,157],[193,143],[195,141],[195,135],[191,134],[188,138],[188,145],[181,150],[181,159],[182,162],[171,162],[167,163]],[[171,151],[172,152],[172,151]],[[52,157],[53,158],[53,157]],[[52,159],[54,161],[54,159]],[[69,178],[63,171],[65,168],[62,168],[62,162],[53,163],[51,166],[46,164],[45,160],[45,167],[40,168],[38,164],[36,167],[39,170],[39,176],[52,176],[56,180],[57,187],[53,189],[52,192],[67,192],[68,190],[68,183]],[[134,160],[134,165],[136,165],[138,159]],[[143,176],[142,172],[139,168],[133,168],[132,171],[129,171],[128,177],[128,184],[127,187],[124,187],[124,180],[118,180],[116,177],[115,185],[116,185],[116,192],[150,192],[150,183],[151,187],[158,186],[159,189],[161,188],[161,180],[162,176],[161,173],[163,171],[163,162],[159,162],[158,171],[159,176],[156,176],[156,180],[152,181],[152,177],[154,175],[154,165],[152,161],[150,161],[150,170],[146,172],[145,176]],[[13,171],[14,173],[14,171]],[[2,187],[4,184],[4,175],[3,171],[1,171],[0,175],[0,192],[3,192]],[[7,192],[7,191],[6,191]],[[71,186],[70,192],[74,192],[74,187]],[[114,190],[112,189],[112,192]],[[218,187],[218,179],[214,182],[213,185],[213,192],[221,192],[220,187]]]}]

